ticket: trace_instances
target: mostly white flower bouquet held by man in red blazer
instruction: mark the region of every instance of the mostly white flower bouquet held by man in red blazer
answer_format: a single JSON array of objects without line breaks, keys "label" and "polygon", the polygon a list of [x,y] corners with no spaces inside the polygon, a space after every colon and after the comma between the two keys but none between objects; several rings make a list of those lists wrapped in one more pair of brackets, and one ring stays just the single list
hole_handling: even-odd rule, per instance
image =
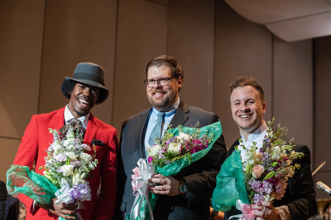
[{"label": "mostly white flower bouquet held by man in red blazer", "polygon": [[[45,169],[44,176],[27,166],[12,165],[7,171],[8,193],[14,197],[23,193],[41,203],[49,203],[55,197],[58,198],[57,204],[91,200],[86,178],[98,163],[97,159],[93,160],[96,153],[94,144],[92,148],[83,144],[82,131],[71,126],[66,135],[51,128],[49,132],[53,134],[53,143],[46,149],[45,165],[39,167],[40,170]],[[93,157],[85,153],[92,149]]]}]

